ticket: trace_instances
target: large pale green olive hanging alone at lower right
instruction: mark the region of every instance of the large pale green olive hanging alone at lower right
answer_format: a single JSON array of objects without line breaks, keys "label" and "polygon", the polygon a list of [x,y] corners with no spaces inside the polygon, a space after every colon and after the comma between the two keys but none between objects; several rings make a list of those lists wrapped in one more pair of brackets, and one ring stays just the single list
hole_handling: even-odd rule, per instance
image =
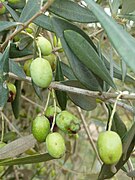
[{"label": "large pale green olive hanging alone at lower right", "polygon": [[122,155],[122,142],[114,131],[101,132],[97,141],[98,152],[105,164],[115,164]]}]

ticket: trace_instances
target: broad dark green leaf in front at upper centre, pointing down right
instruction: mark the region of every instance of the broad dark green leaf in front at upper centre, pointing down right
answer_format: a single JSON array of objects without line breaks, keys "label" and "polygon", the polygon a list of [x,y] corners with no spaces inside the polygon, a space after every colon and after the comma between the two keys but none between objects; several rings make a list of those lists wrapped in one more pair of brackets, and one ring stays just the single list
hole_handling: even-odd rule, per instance
[{"label": "broad dark green leaf in front at upper centre, pointing down right", "polygon": [[79,33],[72,30],[64,31],[64,37],[69,47],[79,58],[79,60],[85,64],[94,74],[115,88],[108,70],[88,41]]}]

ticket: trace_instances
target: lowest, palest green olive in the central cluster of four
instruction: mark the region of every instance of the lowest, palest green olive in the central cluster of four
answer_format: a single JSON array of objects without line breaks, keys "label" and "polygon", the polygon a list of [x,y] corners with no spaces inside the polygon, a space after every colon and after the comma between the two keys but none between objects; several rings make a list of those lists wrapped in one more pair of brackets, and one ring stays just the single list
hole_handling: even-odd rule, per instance
[{"label": "lowest, palest green olive in the central cluster of four", "polygon": [[50,133],[46,138],[46,147],[48,153],[54,158],[61,158],[65,151],[65,141],[61,134],[54,132]]}]

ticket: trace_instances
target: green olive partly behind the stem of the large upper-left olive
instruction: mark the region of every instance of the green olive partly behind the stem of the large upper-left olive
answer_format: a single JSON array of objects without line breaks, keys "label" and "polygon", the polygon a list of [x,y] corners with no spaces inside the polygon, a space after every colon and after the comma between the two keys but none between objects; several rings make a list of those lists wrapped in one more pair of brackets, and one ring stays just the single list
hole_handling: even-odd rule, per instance
[{"label": "green olive partly behind the stem of the large upper-left olive", "polygon": [[52,45],[45,37],[37,38],[37,45],[39,46],[43,56],[48,56],[52,52]]}]

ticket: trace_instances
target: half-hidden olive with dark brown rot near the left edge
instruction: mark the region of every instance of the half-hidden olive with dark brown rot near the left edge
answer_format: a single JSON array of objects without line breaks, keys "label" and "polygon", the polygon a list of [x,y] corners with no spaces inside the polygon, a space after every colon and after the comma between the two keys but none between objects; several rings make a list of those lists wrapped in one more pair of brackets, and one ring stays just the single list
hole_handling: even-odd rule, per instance
[{"label": "half-hidden olive with dark brown rot near the left edge", "polygon": [[16,87],[12,83],[7,83],[7,87],[9,90],[8,102],[13,102],[16,96]]}]

